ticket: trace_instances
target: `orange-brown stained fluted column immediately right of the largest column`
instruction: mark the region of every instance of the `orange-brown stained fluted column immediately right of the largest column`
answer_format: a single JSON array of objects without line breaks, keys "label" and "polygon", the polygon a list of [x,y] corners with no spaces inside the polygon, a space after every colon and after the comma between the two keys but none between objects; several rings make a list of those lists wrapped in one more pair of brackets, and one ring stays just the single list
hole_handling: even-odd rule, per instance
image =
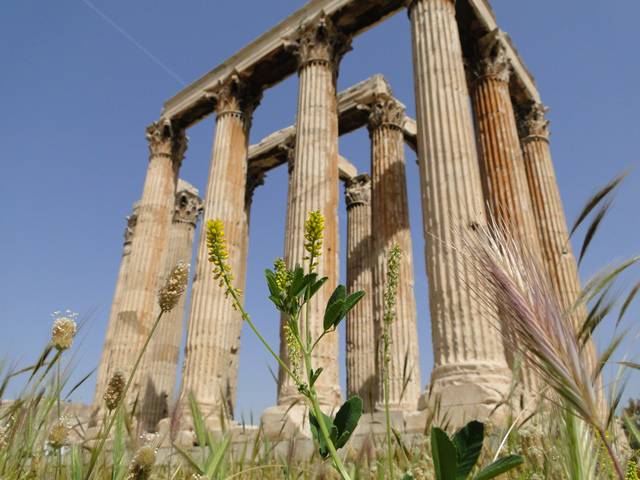
[{"label": "orange-brown stained fluted column immediately right of the largest column", "polygon": [[[541,249],[518,138],[511,96],[511,65],[505,42],[496,30],[480,40],[480,55],[473,68],[472,100],[476,115],[480,170],[485,199],[495,221],[516,238],[523,249],[540,259]],[[514,365],[516,358],[509,355]],[[521,368],[523,384],[536,390],[530,366]]]}]

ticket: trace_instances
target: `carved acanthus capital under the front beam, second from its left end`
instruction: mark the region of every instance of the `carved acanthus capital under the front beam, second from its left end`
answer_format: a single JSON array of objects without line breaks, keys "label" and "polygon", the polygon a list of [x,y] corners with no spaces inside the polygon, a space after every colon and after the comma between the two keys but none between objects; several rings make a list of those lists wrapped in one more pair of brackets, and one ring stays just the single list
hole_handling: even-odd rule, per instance
[{"label": "carved acanthus capital under the front beam, second from its left end", "polygon": [[235,71],[215,87],[208,89],[205,95],[215,102],[218,116],[238,115],[245,121],[251,120],[253,111],[262,100],[262,90]]}]

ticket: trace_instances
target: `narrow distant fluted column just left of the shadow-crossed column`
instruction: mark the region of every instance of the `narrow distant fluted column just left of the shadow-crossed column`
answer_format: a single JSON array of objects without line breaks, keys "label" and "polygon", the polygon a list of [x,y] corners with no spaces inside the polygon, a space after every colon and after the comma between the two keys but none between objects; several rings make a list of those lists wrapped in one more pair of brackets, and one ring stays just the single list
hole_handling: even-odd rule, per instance
[{"label": "narrow distant fluted column just left of the shadow-crossed column", "polygon": [[347,316],[347,395],[359,395],[370,412],[377,389],[377,330],[373,315],[371,178],[358,175],[345,185],[347,204],[347,291],[366,295]]}]

